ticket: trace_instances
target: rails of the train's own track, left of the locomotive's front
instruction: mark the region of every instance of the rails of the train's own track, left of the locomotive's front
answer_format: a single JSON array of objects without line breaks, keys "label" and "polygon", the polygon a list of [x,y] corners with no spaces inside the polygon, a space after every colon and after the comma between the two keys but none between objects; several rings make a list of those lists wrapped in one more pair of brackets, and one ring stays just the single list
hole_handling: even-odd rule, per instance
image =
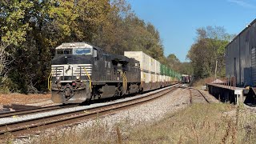
[{"label": "rails of the train's own track, left of the locomotive's front", "polygon": [[29,110],[11,111],[11,112],[0,114],[0,118],[13,117],[13,116],[18,117],[18,116],[26,115],[26,114],[35,114],[35,113],[41,113],[41,112],[46,112],[46,111],[50,111],[50,110],[58,110],[58,109],[74,107],[74,106],[78,106],[78,104],[76,104],[76,105],[45,106],[45,107],[34,108],[34,109],[29,109]]}]

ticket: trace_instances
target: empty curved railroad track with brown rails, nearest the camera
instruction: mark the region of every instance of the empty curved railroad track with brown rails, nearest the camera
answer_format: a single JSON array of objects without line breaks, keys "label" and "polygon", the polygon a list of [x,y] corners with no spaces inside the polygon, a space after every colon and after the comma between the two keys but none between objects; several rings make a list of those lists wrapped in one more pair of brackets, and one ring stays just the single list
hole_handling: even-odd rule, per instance
[{"label": "empty curved railroad track with brown rails, nearest the camera", "polygon": [[54,114],[43,118],[34,118],[22,122],[12,122],[9,124],[0,125],[0,138],[4,139],[6,134],[14,136],[22,134],[33,134],[36,131],[45,130],[54,126],[65,126],[70,123],[79,122],[88,118],[98,118],[105,114],[113,114],[115,111],[124,110],[130,106],[137,106],[144,102],[149,102],[155,98],[176,90],[176,86],[169,86],[163,90],[156,90],[158,92],[150,92],[149,94],[142,94],[141,97],[134,97],[120,102],[113,102],[104,106],[92,107],[86,110],[70,111],[65,114]]}]

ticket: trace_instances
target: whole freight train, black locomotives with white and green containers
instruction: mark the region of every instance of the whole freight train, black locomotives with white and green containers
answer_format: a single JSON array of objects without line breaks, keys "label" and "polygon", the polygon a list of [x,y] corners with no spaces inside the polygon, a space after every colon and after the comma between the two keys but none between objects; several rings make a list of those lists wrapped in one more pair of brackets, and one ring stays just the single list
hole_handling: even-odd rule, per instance
[{"label": "whole freight train, black locomotives with white and green containers", "polygon": [[52,59],[52,101],[82,103],[120,97],[178,83],[181,74],[142,51],[109,54],[87,42],[62,43]]}]

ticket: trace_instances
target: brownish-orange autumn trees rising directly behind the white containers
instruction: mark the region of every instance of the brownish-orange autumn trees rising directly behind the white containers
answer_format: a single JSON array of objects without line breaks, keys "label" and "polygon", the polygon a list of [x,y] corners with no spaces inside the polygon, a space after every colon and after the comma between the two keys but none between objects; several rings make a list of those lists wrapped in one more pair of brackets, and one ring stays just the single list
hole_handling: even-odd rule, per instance
[{"label": "brownish-orange autumn trees rising directly behind the white containers", "polygon": [[112,10],[94,36],[93,43],[110,53],[140,50],[162,61],[163,46],[158,30],[131,12],[125,1],[116,0],[111,5]]}]

